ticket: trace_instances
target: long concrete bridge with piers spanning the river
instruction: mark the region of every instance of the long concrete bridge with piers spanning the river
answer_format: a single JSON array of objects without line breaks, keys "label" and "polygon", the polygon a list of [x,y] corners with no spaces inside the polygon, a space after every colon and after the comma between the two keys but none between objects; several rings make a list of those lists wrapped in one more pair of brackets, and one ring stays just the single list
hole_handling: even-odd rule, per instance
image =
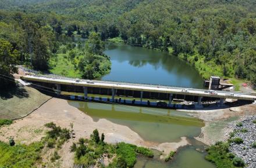
[{"label": "long concrete bridge with piers spanning the river", "polygon": [[223,105],[225,98],[237,100],[248,100],[256,102],[256,95],[252,93],[225,92],[221,90],[193,89],[186,87],[172,87],[161,85],[147,85],[138,83],[112,82],[81,80],[72,78],[48,77],[26,75],[21,77],[24,81],[36,83],[37,85],[50,87],[59,91],[83,92],[84,97],[88,93],[112,95],[111,101],[115,101],[115,96],[139,97],[142,103],[143,98],[154,98],[169,100],[169,107],[173,98],[180,100],[197,101],[200,106],[202,100],[219,100]]}]

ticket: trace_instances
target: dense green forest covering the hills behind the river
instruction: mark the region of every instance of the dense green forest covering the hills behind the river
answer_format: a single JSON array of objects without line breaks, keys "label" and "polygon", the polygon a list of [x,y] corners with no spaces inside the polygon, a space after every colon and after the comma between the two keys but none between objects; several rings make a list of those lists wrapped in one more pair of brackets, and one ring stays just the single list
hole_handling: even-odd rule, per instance
[{"label": "dense green forest covering the hills behind the river", "polygon": [[35,68],[46,67],[74,36],[96,32],[102,41],[119,37],[166,50],[189,61],[204,78],[219,75],[256,84],[253,0],[3,0],[0,9],[0,38],[19,51],[20,61],[38,57]]}]

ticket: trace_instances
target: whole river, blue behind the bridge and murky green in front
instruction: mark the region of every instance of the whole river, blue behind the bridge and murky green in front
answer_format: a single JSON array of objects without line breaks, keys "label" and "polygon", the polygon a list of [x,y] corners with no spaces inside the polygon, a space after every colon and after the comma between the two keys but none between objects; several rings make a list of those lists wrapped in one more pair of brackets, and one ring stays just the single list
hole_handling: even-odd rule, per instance
[{"label": "whole river, blue behind the bridge and murky green in front", "polygon": [[[112,62],[111,72],[101,80],[148,83],[156,85],[202,88],[203,79],[186,61],[170,56],[167,52],[108,43],[104,52]],[[138,156],[134,167],[168,168],[212,168],[204,159],[204,144],[194,139],[204,126],[202,120],[191,117],[187,112],[172,109],[131,107],[126,105],[84,103],[69,101],[70,105],[86,112],[95,121],[101,118],[125,125],[138,133],[144,140],[158,143],[172,143],[187,137],[192,145],[178,150],[170,162]]]}]

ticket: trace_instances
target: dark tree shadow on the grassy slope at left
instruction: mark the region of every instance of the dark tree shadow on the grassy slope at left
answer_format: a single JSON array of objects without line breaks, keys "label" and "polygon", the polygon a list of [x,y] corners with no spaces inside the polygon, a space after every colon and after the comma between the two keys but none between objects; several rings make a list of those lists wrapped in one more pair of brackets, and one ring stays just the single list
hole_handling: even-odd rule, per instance
[{"label": "dark tree shadow on the grassy slope at left", "polygon": [[18,98],[27,98],[29,97],[29,93],[27,93],[27,90],[22,86],[15,86],[9,89],[0,90],[0,97],[3,100],[13,98],[14,96]]}]

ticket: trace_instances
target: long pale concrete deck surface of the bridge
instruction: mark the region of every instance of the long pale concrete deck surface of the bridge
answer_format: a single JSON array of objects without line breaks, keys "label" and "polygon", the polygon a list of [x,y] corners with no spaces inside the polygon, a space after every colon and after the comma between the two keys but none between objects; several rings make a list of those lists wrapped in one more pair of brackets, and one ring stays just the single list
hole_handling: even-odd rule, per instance
[{"label": "long pale concrete deck surface of the bridge", "polygon": [[208,92],[208,90],[205,90],[205,89],[193,89],[193,88],[186,88],[186,87],[172,87],[172,86],[147,85],[147,84],[111,82],[111,81],[96,81],[96,80],[76,81],[76,79],[72,79],[72,78],[51,78],[46,76],[34,76],[34,75],[26,75],[26,76],[22,76],[21,78],[26,81],[56,83],[56,84],[62,84],[62,85],[137,90],[137,91],[143,91],[143,92],[172,93],[172,94],[183,94],[183,95],[202,96],[202,97],[234,98],[239,100],[252,100],[252,101],[256,100],[255,94],[240,93],[240,92],[225,92],[220,90],[216,90],[215,94],[211,94]]}]

